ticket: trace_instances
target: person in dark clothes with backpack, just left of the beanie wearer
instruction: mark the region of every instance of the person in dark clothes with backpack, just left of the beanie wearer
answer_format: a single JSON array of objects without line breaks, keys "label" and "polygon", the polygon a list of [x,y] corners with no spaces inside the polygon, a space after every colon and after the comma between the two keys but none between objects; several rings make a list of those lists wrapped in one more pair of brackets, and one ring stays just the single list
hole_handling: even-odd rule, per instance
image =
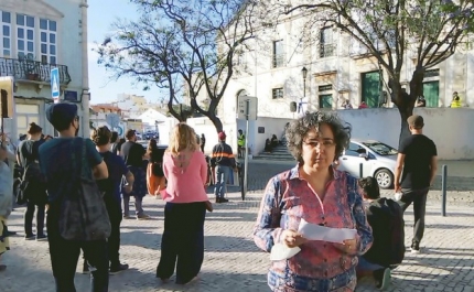
[{"label": "person in dark clothes with backpack, just left of the beanie wearer", "polygon": [[[17,162],[23,170],[20,183],[22,199],[26,202],[24,213],[24,239],[46,240],[44,235],[44,213],[47,203],[46,182],[41,174],[39,164],[39,148],[44,142],[41,139],[43,129],[36,123],[30,123],[26,140],[21,141],[17,149]],[[33,234],[33,216],[36,209],[36,235]]]}]

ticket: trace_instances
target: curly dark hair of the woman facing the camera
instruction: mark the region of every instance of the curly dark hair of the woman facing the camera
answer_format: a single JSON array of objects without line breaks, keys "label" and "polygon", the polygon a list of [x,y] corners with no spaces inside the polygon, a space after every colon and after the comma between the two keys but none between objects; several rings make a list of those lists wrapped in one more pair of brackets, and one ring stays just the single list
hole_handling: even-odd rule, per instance
[{"label": "curly dark hair of the woman facing the camera", "polygon": [[304,137],[306,136],[308,131],[313,128],[317,130],[323,123],[330,126],[334,133],[334,141],[336,143],[336,155],[334,160],[337,160],[343,153],[344,149],[348,147],[352,127],[349,123],[341,120],[336,112],[306,112],[304,117],[291,121],[286,131],[288,150],[290,150],[293,158],[300,164],[303,163],[301,149],[303,147]]}]

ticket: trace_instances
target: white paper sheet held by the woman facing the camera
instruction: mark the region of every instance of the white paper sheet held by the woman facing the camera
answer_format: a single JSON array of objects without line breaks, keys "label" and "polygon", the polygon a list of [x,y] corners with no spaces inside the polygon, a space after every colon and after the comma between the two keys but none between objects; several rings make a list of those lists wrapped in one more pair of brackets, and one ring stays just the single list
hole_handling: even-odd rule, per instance
[{"label": "white paper sheet held by the woman facing the camera", "polygon": [[311,224],[301,219],[298,232],[309,240],[321,240],[327,242],[343,244],[346,239],[355,239],[356,229],[348,228],[330,228]]}]

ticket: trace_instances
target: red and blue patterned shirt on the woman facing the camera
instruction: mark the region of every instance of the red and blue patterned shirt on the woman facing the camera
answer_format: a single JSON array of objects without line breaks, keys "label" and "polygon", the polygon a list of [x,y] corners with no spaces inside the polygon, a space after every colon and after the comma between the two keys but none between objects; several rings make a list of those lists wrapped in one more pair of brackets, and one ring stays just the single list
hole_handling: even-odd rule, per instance
[{"label": "red and blue patterned shirt on the woman facing the camera", "polygon": [[270,252],[284,229],[298,230],[300,220],[332,228],[357,229],[357,255],[347,255],[326,241],[309,241],[288,259],[273,261],[268,281],[273,291],[353,291],[357,256],[373,242],[356,179],[337,171],[324,199],[300,177],[299,165],[276,175],[267,185],[254,230],[256,245]]}]

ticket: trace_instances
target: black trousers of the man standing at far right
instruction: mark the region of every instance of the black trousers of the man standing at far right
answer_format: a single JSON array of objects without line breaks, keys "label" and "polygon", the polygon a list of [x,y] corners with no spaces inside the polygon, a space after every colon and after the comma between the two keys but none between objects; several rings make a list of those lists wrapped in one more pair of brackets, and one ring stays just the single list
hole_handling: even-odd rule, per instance
[{"label": "black trousers of the man standing at far right", "polygon": [[429,187],[421,190],[402,188],[403,194],[398,202],[403,212],[413,203],[413,242],[420,244],[424,234],[424,215],[427,213],[427,196]]}]

